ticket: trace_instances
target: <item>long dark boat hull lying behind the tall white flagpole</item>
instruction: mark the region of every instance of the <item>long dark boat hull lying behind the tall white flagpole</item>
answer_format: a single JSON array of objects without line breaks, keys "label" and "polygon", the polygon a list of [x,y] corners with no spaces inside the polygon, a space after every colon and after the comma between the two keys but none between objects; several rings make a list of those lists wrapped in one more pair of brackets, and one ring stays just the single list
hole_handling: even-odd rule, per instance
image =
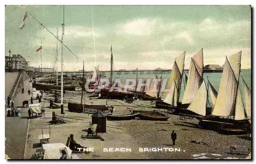
[{"label": "long dark boat hull lying behind the tall white flagpole", "polygon": [[[52,89],[55,90],[61,90],[61,85],[47,85],[47,84],[36,84],[33,83],[32,87],[35,88],[36,90],[45,90],[45,91],[50,91]],[[70,90],[70,91],[75,91],[76,86],[72,85],[64,85],[63,90]]]}]

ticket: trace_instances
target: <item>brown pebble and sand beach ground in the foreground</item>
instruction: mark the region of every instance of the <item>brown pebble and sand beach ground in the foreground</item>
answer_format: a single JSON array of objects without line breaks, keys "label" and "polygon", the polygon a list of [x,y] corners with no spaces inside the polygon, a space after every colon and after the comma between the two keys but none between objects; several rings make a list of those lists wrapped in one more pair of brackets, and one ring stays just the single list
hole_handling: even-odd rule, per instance
[{"label": "brown pebble and sand beach ground in the foreground", "polygon": [[[105,104],[105,99],[84,96],[86,104]],[[41,128],[49,126],[52,112],[66,121],[65,124],[50,125],[50,143],[63,143],[74,134],[77,143],[84,147],[94,148],[89,154],[77,154],[80,159],[244,159],[248,154],[231,154],[231,145],[240,145],[251,148],[251,140],[245,135],[225,135],[216,131],[200,129],[198,120],[181,120],[178,115],[170,115],[168,121],[106,121],[106,132],[98,133],[104,138],[82,139],[81,135],[87,134],[90,127],[91,115],[88,113],[70,112],[68,101],[80,102],[81,95],[66,94],[64,100],[65,114],[60,114],[60,109],[50,109],[49,100],[53,97],[44,96],[41,102],[44,106],[45,116],[29,120],[25,159],[29,159],[38,147],[38,135]],[[155,110],[150,101],[134,101],[127,104],[121,100],[108,100],[108,105],[113,105],[113,114],[128,114],[130,109]],[[48,130],[48,129],[45,129]],[[177,133],[176,145],[172,145],[170,134]],[[191,143],[197,140],[205,144]],[[122,148],[122,149],[121,149]],[[120,150],[123,150],[122,152]]]}]

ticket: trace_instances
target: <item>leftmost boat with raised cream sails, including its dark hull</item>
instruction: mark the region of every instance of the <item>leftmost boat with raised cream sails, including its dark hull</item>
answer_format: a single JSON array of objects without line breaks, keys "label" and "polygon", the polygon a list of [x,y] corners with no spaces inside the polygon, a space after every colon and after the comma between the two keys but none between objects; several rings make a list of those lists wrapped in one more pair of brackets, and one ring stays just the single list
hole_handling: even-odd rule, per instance
[{"label": "leftmost boat with raised cream sails, including its dark hull", "polygon": [[166,89],[169,89],[169,92],[163,92],[162,97],[165,97],[165,99],[163,101],[158,100],[156,102],[156,108],[177,107],[179,104],[185,53],[186,52],[183,52],[175,58],[172,73],[169,76],[166,86]]}]

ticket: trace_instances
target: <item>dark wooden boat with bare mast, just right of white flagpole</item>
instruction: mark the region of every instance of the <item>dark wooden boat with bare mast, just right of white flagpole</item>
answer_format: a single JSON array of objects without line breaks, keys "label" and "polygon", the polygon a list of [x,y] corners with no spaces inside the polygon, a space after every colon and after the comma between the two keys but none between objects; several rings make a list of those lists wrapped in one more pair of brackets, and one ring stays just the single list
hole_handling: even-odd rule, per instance
[{"label": "dark wooden boat with bare mast, just right of white flagpole", "polygon": [[[82,81],[84,81],[84,63],[83,63],[83,74],[82,74]],[[83,83],[84,85],[84,83]],[[82,95],[81,95],[81,103],[76,102],[68,102],[68,109],[71,112],[78,112],[78,113],[95,113],[99,110],[103,111],[106,114],[112,114],[113,113],[113,106],[110,105],[89,105],[89,104],[83,104],[82,98],[83,98],[83,91],[84,88],[82,88]]]}]

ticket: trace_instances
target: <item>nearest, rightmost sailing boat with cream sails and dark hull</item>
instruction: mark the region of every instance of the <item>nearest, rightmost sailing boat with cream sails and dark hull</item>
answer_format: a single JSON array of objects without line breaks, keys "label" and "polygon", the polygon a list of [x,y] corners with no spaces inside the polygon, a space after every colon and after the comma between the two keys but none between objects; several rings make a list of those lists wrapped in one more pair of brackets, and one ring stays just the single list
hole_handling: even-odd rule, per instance
[{"label": "nearest, rightmost sailing boat with cream sails and dark hull", "polygon": [[[221,128],[226,131],[243,131],[241,129],[237,130],[230,127],[245,128],[249,125],[239,87],[241,54],[242,52],[240,51],[229,57],[229,59],[226,57],[219,93],[216,101],[212,99],[214,107],[210,114],[206,113],[207,89],[204,81],[194,100],[188,106],[187,110],[199,114],[199,116],[195,116],[195,118],[200,120],[199,125],[209,126],[222,124],[228,126],[228,128]],[[215,98],[215,96],[212,95],[211,97]],[[248,106],[249,105],[250,104],[248,104]]]}]

